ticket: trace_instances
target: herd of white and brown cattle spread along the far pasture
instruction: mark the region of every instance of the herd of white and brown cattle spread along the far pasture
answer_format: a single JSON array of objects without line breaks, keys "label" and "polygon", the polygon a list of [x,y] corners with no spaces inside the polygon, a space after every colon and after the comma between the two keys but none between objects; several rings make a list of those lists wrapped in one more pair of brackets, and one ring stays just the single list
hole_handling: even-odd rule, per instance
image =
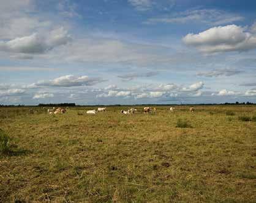
[{"label": "herd of white and brown cattle spread along the far pasture", "polygon": [[[43,109],[45,109],[45,107],[43,107]],[[51,115],[51,114],[57,114],[57,113],[66,113],[67,110],[69,109],[69,107],[66,108],[55,108],[53,107],[53,109],[47,109],[47,112]],[[46,109],[45,109],[46,110]],[[106,107],[99,107],[97,110],[88,110],[86,111],[87,114],[96,114],[97,112],[105,112],[106,111]],[[194,112],[195,108],[194,107],[190,107],[189,108],[189,112]],[[122,114],[134,114],[137,112],[137,109],[128,109],[128,110],[121,110]],[[156,107],[144,107],[143,108],[143,112],[144,113],[156,113],[157,112],[157,108]],[[175,107],[170,107],[170,112],[175,112]],[[34,110],[29,109],[29,113],[34,113]]]}]

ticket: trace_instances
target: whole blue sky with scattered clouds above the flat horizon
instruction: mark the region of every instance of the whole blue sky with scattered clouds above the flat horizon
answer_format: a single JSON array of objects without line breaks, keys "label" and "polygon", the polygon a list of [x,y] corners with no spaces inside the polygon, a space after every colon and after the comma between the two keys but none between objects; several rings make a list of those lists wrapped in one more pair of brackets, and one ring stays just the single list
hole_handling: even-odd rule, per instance
[{"label": "whole blue sky with scattered clouds above the flat horizon", "polygon": [[0,5],[0,104],[256,102],[254,0]]}]

